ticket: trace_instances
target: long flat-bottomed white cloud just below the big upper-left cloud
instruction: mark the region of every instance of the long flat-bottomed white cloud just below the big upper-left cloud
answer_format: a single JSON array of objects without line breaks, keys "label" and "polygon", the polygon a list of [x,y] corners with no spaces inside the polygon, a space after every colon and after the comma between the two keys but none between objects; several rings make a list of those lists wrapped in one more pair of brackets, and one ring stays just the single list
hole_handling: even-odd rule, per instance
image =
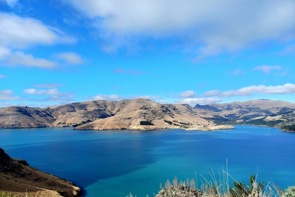
[{"label": "long flat-bottomed white cloud just below the big upper-left cloud", "polygon": [[44,69],[53,69],[57,66],[54,61],[49,61],[42,58],[35,58],[31,54],[24,54],[21,51],[14,52],[7,58],[6,64],[13,66],[29,66]]}]

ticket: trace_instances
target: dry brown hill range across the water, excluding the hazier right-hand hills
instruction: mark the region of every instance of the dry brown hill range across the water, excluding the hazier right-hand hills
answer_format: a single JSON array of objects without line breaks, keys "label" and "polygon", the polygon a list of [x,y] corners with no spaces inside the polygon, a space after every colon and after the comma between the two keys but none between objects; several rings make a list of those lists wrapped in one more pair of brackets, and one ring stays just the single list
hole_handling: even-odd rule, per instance
[{"label": "dry brown hill range across the water, excluding the hazier right-hand hills", "polygon": [[[140,125],[140,121],[150,121],[154,126]],[[0,108],[0,128],[49,126],[146,130],[212,126],[212,123],[200,118],[187,104],[162,105],[149,99],[86,101],[47,108]]]}]

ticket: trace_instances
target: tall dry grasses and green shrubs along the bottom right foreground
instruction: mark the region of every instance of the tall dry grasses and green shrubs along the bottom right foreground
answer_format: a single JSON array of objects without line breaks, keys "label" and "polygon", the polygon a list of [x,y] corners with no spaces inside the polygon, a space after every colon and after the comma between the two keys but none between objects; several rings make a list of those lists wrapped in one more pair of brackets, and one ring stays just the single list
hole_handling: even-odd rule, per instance
[{"label": "tall dry grasses and green shrubs along the bottom right foreground", "polygon": [[[210,174],[211,175],[211,174]],[[219,181],[215,178],[214,172],[211,175],[212,180],[207,181],[204,177],[201,188],[196,187],[194,178],[186,181],[178,182],[177,177],[174,177],[172,183],[167,180],[165,187],[160,184],[158,194],[154,193],[155,197],[295,197],[295,186],[281,190],[275,185],[264,181],[257,181],[255,175],[251,173],[247,185],[243,182],[238,182],[234,179],[233,187],[230,186],[227,172],[223,171],[222,176],[219,174]],[[221,181],[222,180],[222,181]],[[130,193],[129,196],[133,197]],[[136,197],[136,196],[135,196]],[[147,195],[148,197],[148,195]]]}]

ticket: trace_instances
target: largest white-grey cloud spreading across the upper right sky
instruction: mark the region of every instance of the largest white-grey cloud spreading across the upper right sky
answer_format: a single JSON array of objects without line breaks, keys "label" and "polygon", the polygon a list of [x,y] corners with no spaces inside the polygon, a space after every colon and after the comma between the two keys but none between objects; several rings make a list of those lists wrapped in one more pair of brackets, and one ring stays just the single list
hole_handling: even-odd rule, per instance
[{"label": "largest white-grey cloud spreading across the upper right sky", "polygon": [[176,36],[187,45],[195,43],[199,60],[295,37],[293,0],[65,1],[92,19],[110,51],[133,38]]}]

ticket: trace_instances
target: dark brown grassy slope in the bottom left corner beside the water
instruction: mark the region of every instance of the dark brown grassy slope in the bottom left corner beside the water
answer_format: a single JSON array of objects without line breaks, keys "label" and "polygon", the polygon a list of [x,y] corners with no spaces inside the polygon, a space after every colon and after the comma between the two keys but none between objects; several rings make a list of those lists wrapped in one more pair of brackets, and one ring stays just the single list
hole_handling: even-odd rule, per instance
[{"label": "dark brown grassy slope in the bottom left corner beside the water", "polygon": [[30,196],[78,197],[82,191],[70,181],[42,172],[21,159],[10,158],[0,148],[0,192]]}]

